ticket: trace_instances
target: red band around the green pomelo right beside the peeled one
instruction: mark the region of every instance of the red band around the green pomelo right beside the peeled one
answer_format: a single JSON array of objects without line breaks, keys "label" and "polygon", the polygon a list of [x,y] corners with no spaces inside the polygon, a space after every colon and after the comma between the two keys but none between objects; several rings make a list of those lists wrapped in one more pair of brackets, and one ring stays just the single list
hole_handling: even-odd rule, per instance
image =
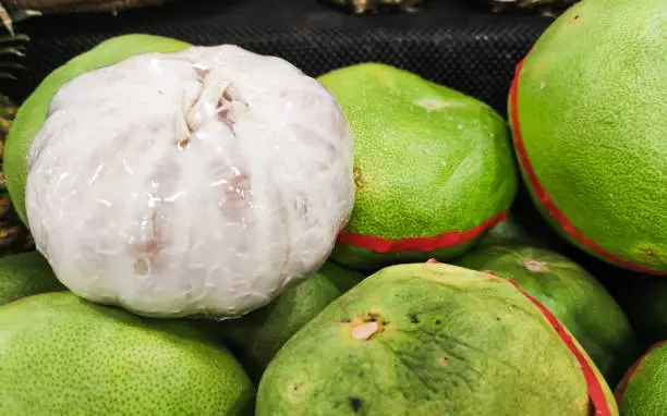
[{"label": "red band around the green pomelo right beside the peeled one", "polygon": [[450,231],[435,237],[411,237],[398,241],[385,240],[375,235],[356,234],[343,230],[338,235],[338,242],[340,244],[372,249],[376,253],[434,252],[436,249],[453,247],[471,241],[506,218],[507,211],[502,211],[496,217],[486,220],[484,223],[464,232]]}]

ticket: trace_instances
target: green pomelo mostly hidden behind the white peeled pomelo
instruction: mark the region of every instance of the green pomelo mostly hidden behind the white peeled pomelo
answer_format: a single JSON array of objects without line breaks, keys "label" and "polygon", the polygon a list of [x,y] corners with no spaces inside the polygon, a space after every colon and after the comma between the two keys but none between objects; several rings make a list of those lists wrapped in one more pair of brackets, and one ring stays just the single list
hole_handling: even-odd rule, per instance
[{"label": "green pomelo mostly hidden behind the white peeled pomelo", "polygon": [[92,50],[72,59],[47,76],[19,109],[4,147],[4,176],[7,186],[21,220],[27,224],[25,213],[25,181],[27,155],[33,139],[46,121],[53,96],[60,87],[75,77],[116,64],[137,54],[178,52],[190,44],[150,35],[123,35],[99,44]]}]

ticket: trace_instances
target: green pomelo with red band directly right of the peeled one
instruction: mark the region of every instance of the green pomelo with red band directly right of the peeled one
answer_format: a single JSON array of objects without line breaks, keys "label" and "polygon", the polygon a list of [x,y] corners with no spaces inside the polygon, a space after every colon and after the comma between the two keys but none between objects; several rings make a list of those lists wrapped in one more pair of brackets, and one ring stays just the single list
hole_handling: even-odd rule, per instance
[{"label": "green pomelo with red band directly right of the peeled one", "polygon": [[[398,242],[465,233],[511,205],[518,174],[508,129],[487,105],[379,63],[318,79],[354,133],[356,197],[343,234]],[[435,249],[388,253],[339,241],[332,259],[360,269],[446,260],[463,253],[477,234]]]}]

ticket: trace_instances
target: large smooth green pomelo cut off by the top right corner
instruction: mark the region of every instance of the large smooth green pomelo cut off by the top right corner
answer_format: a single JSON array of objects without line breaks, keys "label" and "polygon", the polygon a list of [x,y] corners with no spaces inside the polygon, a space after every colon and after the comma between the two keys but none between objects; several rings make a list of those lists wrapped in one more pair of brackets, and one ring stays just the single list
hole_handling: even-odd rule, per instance
[{"label": "large smooth green pomelo cut off by the top right corner", "polygon": [[538,39],[518,83],[521,135],[551,201],[607,252],[662,271],[666,20],[664,0],[581,2]]}]

